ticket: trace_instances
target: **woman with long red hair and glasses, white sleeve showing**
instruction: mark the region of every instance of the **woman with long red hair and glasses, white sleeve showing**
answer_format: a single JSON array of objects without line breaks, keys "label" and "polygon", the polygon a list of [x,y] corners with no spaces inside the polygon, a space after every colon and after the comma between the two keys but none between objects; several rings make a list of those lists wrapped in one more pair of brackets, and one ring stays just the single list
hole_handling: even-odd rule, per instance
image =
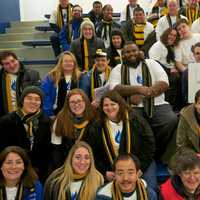
[{"label": "woman with long red hair and glasses, white sleeve showing", "polygon": [[66,96],[63,109],[53,123],[52,169],[60,167],[76,141],[89,142],[93,131],[94,113],[87,95],[81,89],[73,89]]}]

